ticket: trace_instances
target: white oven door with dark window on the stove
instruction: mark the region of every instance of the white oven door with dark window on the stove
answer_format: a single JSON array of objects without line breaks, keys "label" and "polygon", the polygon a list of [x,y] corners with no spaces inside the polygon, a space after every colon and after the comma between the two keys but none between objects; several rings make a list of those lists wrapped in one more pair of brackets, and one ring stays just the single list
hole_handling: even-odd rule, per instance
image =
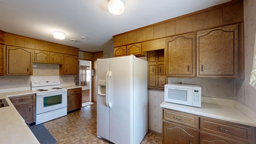
[{"label": "white oven door with dark window on the stove", "polygon": [[36,94],[36,114],[67,107],[67,90]]}]

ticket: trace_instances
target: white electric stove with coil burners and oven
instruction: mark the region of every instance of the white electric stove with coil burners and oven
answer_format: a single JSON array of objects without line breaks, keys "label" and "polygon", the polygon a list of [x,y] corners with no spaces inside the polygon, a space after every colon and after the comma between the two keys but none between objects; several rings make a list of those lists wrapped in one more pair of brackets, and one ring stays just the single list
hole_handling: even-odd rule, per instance
[{"label": "white electric stove with coil burners and oven", "polygon": [[67,89],[60,87],[59,76],[31,77],[36,91],[36,125],[67,115]]}]

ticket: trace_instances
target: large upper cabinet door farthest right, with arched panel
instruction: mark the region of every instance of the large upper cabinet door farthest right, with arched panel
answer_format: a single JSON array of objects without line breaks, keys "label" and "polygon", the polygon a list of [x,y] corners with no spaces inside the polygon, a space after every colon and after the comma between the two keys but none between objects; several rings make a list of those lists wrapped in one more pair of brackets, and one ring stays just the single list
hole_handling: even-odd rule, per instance
[{"label": "large upper cabinet door farthest right, with arched panel", "polygon": [[198,77],[236,78],[238,25],[196,32]]}]

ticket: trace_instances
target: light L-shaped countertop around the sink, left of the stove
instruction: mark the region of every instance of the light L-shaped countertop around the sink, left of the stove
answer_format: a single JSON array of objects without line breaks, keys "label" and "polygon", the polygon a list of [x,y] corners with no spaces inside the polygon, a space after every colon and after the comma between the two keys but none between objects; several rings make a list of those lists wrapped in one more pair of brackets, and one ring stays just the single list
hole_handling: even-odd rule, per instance
[{"label": "light L-shaped countertop around the sink, left of the stove", "polygon": [[39,144],[8,97],[35,94],[32,90],[0,93],[9,106],[0,108],[0,139],[3,144]]}]

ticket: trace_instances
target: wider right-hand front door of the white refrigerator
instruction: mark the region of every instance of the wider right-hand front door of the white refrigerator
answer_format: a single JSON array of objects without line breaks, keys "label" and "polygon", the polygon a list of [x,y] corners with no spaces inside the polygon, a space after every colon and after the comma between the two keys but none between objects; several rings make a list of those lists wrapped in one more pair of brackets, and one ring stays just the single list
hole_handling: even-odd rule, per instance
[{"label": "wider right-hand front door of the white refrigerator", "polygon": [[110,59],[110,141],[133,143],[133,56]]}]

